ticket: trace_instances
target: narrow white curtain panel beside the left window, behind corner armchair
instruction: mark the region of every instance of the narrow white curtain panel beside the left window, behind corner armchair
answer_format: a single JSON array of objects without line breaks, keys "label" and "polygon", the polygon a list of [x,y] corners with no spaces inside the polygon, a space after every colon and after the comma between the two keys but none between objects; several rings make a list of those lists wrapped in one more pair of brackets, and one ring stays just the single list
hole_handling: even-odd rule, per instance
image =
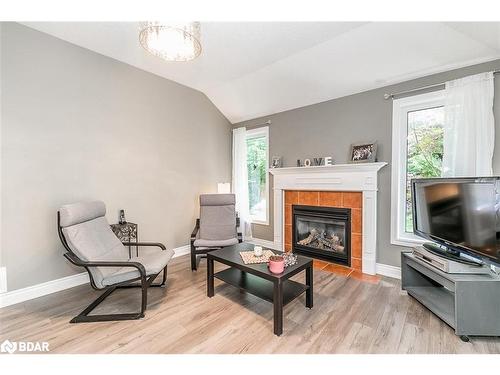
[{"label": "narrow white curtain panel beside the left window, behind corner armchair", "polygon": [[233,193],[236,195],[236,211],[240,217],[243,240],[252,239],[250,204],[248,202],[248,167],[246,128],[233,130]]}]

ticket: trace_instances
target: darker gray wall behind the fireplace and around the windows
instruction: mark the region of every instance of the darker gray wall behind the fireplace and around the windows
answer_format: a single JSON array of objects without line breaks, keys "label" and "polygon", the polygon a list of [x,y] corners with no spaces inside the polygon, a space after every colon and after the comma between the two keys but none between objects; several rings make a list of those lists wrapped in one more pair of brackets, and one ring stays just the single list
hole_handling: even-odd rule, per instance
[{"label": "darker gray wall behind the fireplace and around the windows", "polygon": [[[337,163],[344,163],[351,143],[377,140],[378,160],[389,163],[379,175],[377,262],[399,266],[399,253],[404,248],[390,243],[392,101],[384,100],[383,95],[495,69],[500,69],[500,60],[297,108],[235,126],[253,128],[255,124],[271,120],[270,155],[282,156],[284,166],[295,166],[297,159],[327,155],[333,156]],[[500,77],[497,76],[495,92],[500,93],[499,90]],[[494,171],[500,173],[500,94],[495,96],[494,109],[497,124]],[[272,199],[272,190],[270,195]],[[272,241],[273,203],[270,204],[270,225],[254,225],[253,235]]]}]

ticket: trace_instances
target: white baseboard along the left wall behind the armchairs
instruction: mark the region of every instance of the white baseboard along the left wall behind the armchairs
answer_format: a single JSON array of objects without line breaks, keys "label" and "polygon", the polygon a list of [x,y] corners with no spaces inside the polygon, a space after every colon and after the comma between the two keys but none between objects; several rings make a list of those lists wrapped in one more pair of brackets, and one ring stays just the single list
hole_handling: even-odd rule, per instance
[{"label": "white baseboard along the left wall behind the armchairs", "polygon": [[[174,249],[175,254],[173,257],[177,258],[179,256],[189,254],[190,250],[191,247],[189,245],[176,247]],[[3,267],[2,269],[5,269],[5,267]],[[73,288],[75,286],[86,284],[88,282],[88,273],[82,272],[76,275],[66,276],[60,279],[47,281],[45,283],[13,290],[11,292],[4,292],[0,294],[0,308],[15,305],[16,303],[21,303],[30,299],[46,296],[47,294],[52,294],[64,289]]]}]

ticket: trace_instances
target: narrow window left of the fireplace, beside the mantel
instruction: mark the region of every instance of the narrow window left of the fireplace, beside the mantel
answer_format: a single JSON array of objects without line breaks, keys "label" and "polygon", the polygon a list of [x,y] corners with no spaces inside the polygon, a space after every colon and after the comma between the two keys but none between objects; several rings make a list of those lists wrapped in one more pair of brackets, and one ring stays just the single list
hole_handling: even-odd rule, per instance
[{"label": "narrow window left of the fireplace, beside the mantel", "polygon": [[269,224],[269,128],[247,131],[248,201],[253,223]]}]

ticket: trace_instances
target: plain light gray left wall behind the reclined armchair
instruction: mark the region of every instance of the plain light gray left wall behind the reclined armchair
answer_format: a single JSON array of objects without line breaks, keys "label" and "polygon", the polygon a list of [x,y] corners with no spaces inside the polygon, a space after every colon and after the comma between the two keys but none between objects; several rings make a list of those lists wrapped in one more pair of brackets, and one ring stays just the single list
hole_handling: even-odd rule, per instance
[{"label": "plain light gray left wall behind the reclined armchair", "polygon": [[19,24],[2,30],[2,263],[8,290],[68,276],[56,211],[100,199],[139,237],[188,243],[231,176],[231,125],[202,93]]}]

